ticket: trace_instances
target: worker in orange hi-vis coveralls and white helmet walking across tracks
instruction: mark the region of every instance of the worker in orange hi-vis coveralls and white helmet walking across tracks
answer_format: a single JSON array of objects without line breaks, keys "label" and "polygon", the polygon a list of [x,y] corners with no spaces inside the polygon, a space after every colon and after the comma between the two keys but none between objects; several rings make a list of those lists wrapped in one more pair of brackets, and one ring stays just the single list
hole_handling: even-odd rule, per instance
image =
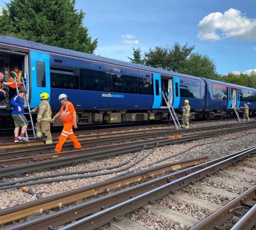
[{"label": "worker in orange hi-vis coveralls and white helmet walking across tracks", "polygon": [[63,130],[59,136],[59,142],[57,143],[55,149],[52,149],[52,153],[59,153],[61,151],[62,145],[66,141],[67,137],[72,140],[76,149],[81,148],[81,144],[76,139],[76,136],[73,133],[72,127],[77,128],[76,124],[76,112],[73,104],[68,101],[68,96],[66,94],[60,94],[58,100],[62,104],[59,112],[53,117],[51,122],[59,116],[60,120],[63,122]]}]

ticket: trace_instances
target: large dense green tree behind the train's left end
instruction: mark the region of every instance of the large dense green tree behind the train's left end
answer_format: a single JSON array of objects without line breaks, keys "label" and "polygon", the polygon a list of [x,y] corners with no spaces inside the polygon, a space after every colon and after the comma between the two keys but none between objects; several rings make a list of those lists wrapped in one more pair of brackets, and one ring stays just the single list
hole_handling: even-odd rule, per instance
[{"label": "large dense green tree behind the train's left end", "polygon": [[83,26],[84,16],[75,0],[11,0],[0,15],[0,34],[92,54],[98,40]]}]

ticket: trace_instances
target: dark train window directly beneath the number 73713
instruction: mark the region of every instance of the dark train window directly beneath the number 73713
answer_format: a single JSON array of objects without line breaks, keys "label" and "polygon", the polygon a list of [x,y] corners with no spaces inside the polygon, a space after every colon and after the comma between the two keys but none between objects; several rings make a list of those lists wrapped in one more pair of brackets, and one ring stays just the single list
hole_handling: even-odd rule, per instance
[{"label": "dark train window directly beneath the number 73713", "polygon": [[112,87],[113,92],[116,93],[138,93],[138,80],[137,77],[123,75],[123,74],[112,74]]}]

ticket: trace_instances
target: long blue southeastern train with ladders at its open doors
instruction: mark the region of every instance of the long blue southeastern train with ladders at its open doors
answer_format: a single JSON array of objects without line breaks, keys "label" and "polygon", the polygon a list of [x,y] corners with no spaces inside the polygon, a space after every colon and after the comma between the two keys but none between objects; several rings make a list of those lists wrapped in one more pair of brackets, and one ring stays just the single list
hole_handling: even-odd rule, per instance
[{"label": "long blue southeastern train with ladders at its open doors", "polygon": [[[38,105],[39,93],[47,92],[56,113],[57,98],[65,93],[77,110],[78,124],[169,120],[162,91],[169,93],[179,118],[184,99],[190,101],[191,118],[232,116],[232,99],[236,107],[248,104],[250,115],[256,110],[254,88],[0,36],[0,72],[5,80],[14,65],[24,73],[31,108]],[[2,102],[2,118],[5,107]]]}]

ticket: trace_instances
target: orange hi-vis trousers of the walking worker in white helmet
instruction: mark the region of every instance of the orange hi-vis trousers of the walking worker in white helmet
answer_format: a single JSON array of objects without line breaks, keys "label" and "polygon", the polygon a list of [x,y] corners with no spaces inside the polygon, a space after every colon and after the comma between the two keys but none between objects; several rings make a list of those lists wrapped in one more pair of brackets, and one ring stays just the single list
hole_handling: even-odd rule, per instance
[{"label": "orange hi-vis trousers of the walking worker in white helmet", "polygon": [[70,140],[72,140],[72,142],[74,143],[75,148],[81,148],[81,144],[78,142],[78,140],[76,139],[75,134],[73,133],[72,130],[72,126],[73,126],[73,122],[65,122],[63,123],[64,127],[63,130],[59,136],[59,142],[57,143],[56,147],[55,147],[55,151],[56,152],[60,152],[62,145],[64,144],[64,142],[66,141],[67,137],[69,137]]}]

